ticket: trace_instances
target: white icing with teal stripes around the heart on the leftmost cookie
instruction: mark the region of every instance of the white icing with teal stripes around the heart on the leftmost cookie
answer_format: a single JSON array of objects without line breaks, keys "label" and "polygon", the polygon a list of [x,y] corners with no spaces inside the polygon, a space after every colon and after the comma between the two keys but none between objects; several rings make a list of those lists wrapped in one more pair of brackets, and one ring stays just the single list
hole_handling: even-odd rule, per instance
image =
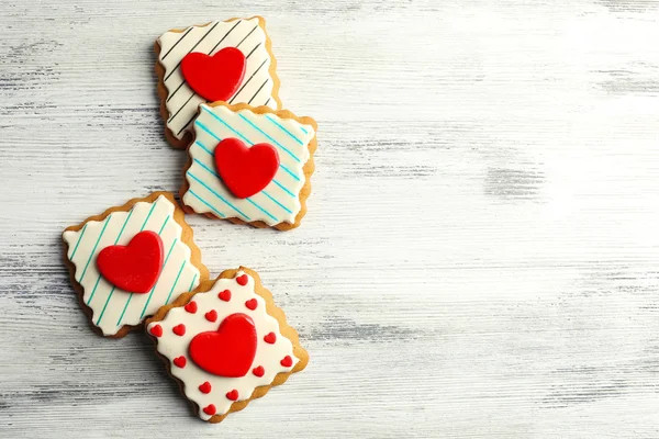
[{"label": "white icing with teal stripes around the heart on the leftmost cookie", "polygon": [[[199,285],[199,270],[190,262],[190,248],[181,241],[182,229],[174,219],[175,209],[160,195],[153,203],[135,203],[129,212],[113,212],[103,221],[90,221],[79,232],[64,233],[67,257],[75,263],[76,280],[85,289],[82,300],[93,313],[92,323],[104,335],[114,335],[124,325],[139,324],[160,306]],[[141,230],[160,235],[165,266],[150,293],[134,294],[110,284],[99,273],[96,259],[103,248],[125,246]]]}]

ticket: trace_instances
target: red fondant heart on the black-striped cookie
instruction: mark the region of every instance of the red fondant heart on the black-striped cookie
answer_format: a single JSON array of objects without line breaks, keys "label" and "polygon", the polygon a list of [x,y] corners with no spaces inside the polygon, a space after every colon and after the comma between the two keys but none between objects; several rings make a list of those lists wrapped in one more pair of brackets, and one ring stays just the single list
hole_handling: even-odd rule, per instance
[{"label": "red fondant heart on the black-striped cookie", "polygon": [[200,97],[211,102],[226,101],[243,82],[245,55],[236,47],[224,47],[213,56],[192,52],[183,57],[181,72]]}]

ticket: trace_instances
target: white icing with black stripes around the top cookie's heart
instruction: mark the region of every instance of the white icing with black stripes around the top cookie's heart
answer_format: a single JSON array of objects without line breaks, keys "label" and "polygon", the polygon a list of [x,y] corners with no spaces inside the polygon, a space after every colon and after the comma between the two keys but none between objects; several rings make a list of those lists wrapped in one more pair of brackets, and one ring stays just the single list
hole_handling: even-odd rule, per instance
[{"label": "white icing with black stripes around the top cookie's heart", "polygon": [[158,44],[168,91],[166,105],[169,117],[166,123],[176,138],[182,138],[186,131],[191,130],[199,104],[206,102],[188,87],[181,74],[180,63],[190,52],[214,55],[224,47],[237,47],[247,57],[245,77],[228,102],[277,109],[277,101],[272,97],[275,81],[270,76],[271,59],[266,48],[266,32],[259,26],[258,19],[214,21],[181,32],[166,32],[158,38]]}]

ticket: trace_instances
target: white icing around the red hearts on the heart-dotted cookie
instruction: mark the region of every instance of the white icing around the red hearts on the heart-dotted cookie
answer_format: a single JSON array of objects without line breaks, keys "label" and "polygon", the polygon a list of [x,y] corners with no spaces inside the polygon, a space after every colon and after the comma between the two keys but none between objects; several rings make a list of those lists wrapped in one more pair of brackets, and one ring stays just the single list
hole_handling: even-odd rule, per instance
[{"label": "white icing around the red hearts on the heart-dotted cookie", "polygon": [[[244,274],[239,271],[237,275]],[[222,301],[217,297],[217,293],[224,290],[231,291],[231,300]],[[256,309],[250,311],[245,306],[245,302],[252,299],[258,301]],[[197,312],[188,313],[183,306],[175,307],[169,311],[165,319],[154,322],[148,325],[148,330],[155,326],[163,327],[163,335],[157,337],[157,350],[164,357],[171,361],[171,374],[185,384],[183,392],[186,396],[193,401],[199,406],[199,416],[208,420],[211,415],[206,415],[203,408],[213,404],[216,408],[216,415],[225,414],[233,403],[226,397],[226,393],[232,390],[238,391],[238,399],[248,399],[252,392],[257,386],[268,385],[275,376],[280,372],[289,372],[298,363],[298,359],[293,356],[293,346],[291,341],[281,335],[279,330],[279,322],[266,312],[266,301],[254,292],[254,279],[248,275],[246,285],[239,285],[235,279],[220,279],[215,281],[213,288],[205,293],[198,293],[192,297],[197,302]],[[217,319],[209,322],[205,318],[205,313],[215,309]],[[222,320],[231,314],[243,313],[252,317],[256,326],[257,348],[256,357],[249,368],[249,372],[242,378],[224,378],[214,375],[199,368],[190,359],[188,346],[192,338],[200,333],[217,330]],[[186,325],[186,334],[182,337],[172,333],[172,328],[179,324]],[[264,337],[275,333],[277,341],[273,345],[264,341]],[[185,368],[179,368],[174,363],[174,359],[186,357],[187,363]],[[286,368],[280,364],[280,361],[290,356],[293,364]],[[261,378],[254,375],[252,370],[261,365],[265,369],[265,374]],[[199,390],[199,386],[204,382],[211,384],[211,392],[204,394]]]}]

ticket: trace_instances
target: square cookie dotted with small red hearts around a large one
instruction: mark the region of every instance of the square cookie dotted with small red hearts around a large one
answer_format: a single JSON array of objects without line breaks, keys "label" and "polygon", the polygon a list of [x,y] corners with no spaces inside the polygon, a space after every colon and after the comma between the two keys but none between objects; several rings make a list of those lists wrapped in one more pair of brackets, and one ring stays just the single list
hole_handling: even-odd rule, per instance
[{"label": "square cookie dotted with small red hearts around a large one", "polygon": [[309,361],[270,292],[244,267],[182,294],[146,328],[194,413],[210,423],[245,408]]}]

